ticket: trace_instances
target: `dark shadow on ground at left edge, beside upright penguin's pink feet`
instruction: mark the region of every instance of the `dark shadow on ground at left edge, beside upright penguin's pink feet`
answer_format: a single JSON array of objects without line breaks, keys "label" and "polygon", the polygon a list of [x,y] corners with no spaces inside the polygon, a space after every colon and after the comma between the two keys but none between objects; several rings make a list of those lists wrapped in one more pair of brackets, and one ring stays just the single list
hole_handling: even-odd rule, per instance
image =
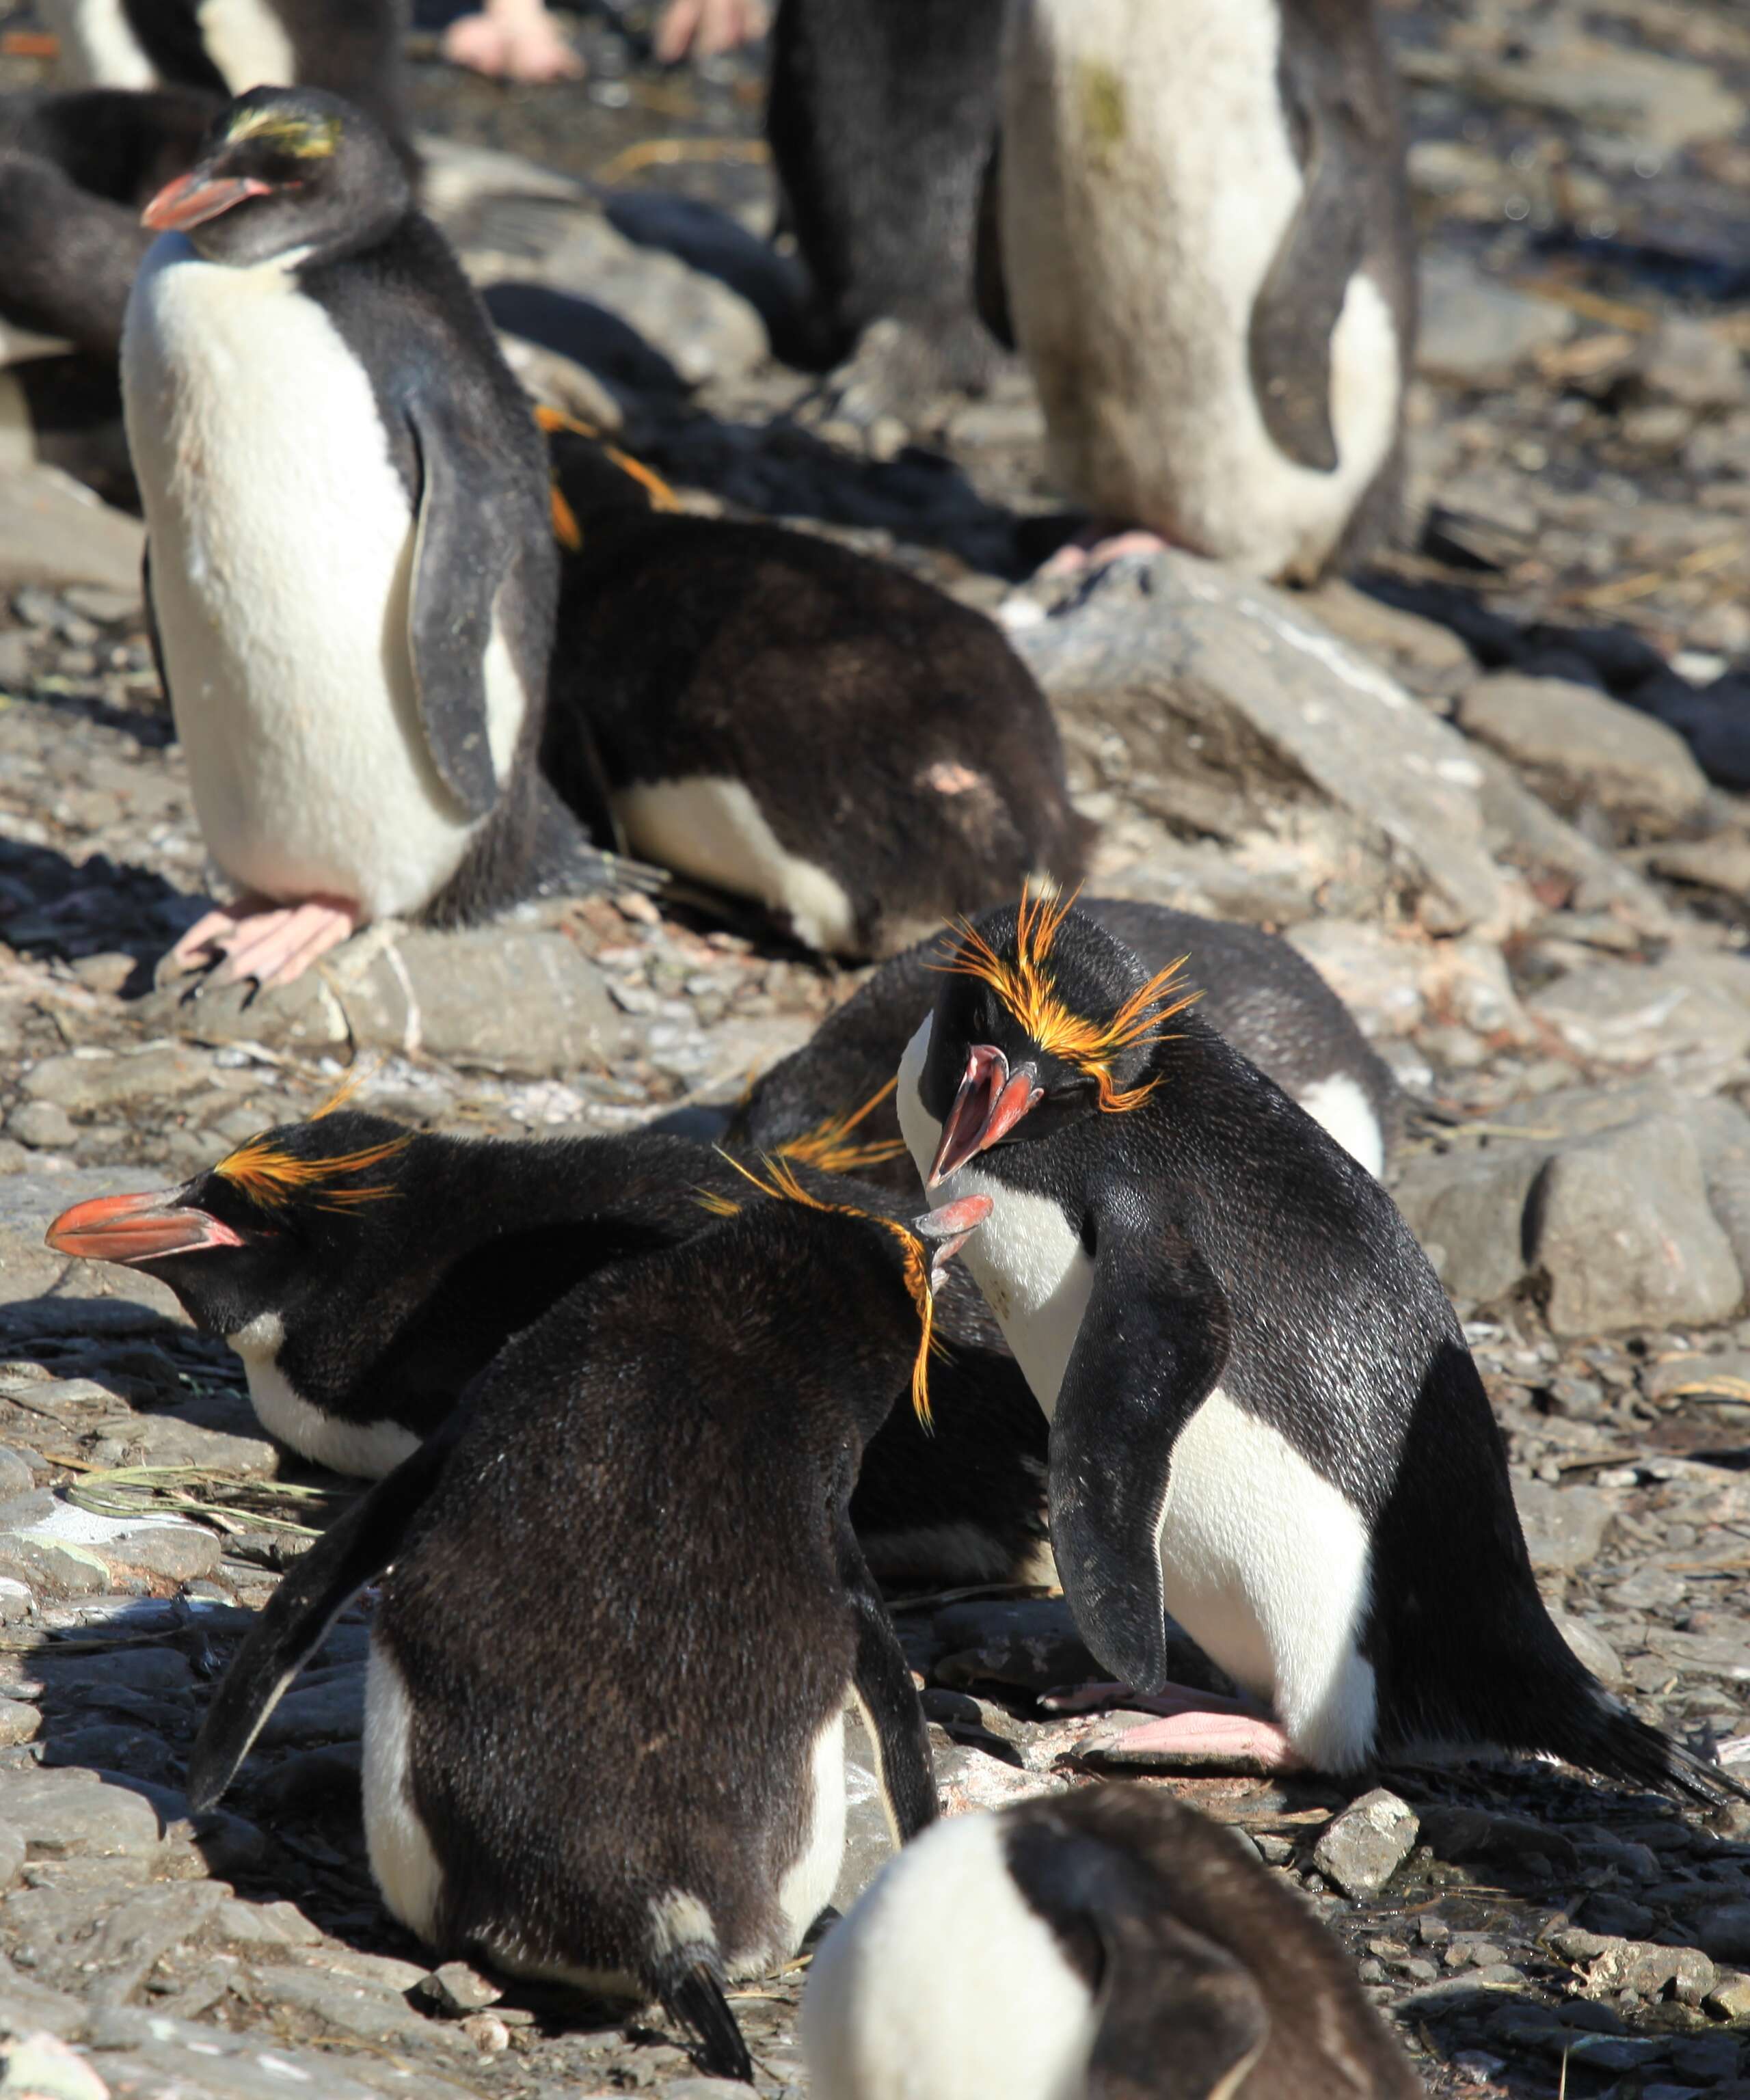
[{"label": "dark shadow on ground at left edge, beside upright penguin's pink feet", "polygon": [[164,949],[206,909],[164,876],[92,853],[71,861],[53,846],[0,838],[0,924],[6,943],[40,962],[76,964],[124,953],[132,970],[120,998],[153,987]]}]

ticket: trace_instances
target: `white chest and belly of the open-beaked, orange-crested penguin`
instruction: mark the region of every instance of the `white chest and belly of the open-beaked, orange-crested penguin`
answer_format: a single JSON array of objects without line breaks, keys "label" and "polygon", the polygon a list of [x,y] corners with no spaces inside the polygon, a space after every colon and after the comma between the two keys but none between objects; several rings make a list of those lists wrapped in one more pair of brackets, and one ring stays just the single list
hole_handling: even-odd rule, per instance
[{"label": "white chest and belly of the open-beaked, orange-crested penguin", "polygon": [[[918,1096],[929,1037],[924,1021],[895,1088],[918,1174],[941,1138]],[[1095,1279],[1080,1237],[1057,1203],[1017,1197],[975,1166],[931,1195],[992,1197],[962,1260],[1034,1396],[1055,1415]],[[1376,1712],[1374,1670],[1355,1646],[1372,1581],[1368,1527],[1288,1438],[1221,1386],[1172,1447],[1158,1552],[1166,1609],[1231,1678],[1275,1703],[1296,1749],[1326,1770],[1361,1764]]]}]

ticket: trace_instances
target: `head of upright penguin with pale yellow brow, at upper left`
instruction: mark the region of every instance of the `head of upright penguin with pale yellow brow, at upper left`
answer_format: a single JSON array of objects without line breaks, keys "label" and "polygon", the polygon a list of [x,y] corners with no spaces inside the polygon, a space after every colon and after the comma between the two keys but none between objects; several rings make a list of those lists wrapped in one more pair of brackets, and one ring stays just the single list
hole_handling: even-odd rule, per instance
[{"label": "head of upright penguin with pale yellow brow, at upper left", "polygon": [[328,260],[380,239],[412,202],[395,149],[363,111],[319,88],[250,88],[141,225],[187,233],[208,262],[248,267],[294,250]]}]

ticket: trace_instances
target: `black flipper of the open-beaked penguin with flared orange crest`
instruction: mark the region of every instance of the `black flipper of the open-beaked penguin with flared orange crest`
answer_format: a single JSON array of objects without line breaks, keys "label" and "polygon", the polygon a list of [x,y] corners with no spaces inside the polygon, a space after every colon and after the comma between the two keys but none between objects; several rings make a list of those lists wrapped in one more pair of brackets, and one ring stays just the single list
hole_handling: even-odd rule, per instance
[{"label": "black flipper of the open-beaked penguin with flared orange crest", "polygon": [[1221,1378],[1229,1312],[1195,1247],[1141,1205],[1097,1231],[1050,1424],[1050,1548],[1082,1640],[1153,1693],[1168,1682],[1158,1537],[1172,1447]]}]

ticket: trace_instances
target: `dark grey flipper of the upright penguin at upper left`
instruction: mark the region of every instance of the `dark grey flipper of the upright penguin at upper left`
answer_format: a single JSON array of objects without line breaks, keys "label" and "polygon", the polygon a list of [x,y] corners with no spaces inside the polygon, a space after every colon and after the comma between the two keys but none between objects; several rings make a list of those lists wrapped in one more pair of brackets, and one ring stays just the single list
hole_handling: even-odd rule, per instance
[{"label": "dark grey flipper of the upright penguin at upper left", "polygon": [[[502,466],[483,435],[464,428],[441,403],[414,397],[408,424],[420,487],[408,594],[414,699],[437,777],[464,815],[485,817],[498,802],[485,651],[515,554],[498,504]],[[540,695],[529,699],[538,704]]]}]

